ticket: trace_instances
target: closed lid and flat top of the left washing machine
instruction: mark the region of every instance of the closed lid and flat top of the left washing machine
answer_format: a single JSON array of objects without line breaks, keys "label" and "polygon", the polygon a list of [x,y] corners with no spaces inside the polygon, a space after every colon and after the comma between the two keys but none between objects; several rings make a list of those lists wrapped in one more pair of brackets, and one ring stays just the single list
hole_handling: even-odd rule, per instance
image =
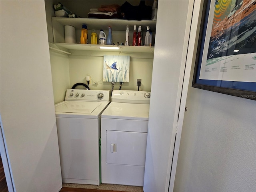
[{"label": "closed lid and flat top of the left washing machine", "polygon": [[57,106],[55,108],[55,112],[90,114],[98,106],[100,106],[99,102],[70,101],[63,103],[60,106]]}]

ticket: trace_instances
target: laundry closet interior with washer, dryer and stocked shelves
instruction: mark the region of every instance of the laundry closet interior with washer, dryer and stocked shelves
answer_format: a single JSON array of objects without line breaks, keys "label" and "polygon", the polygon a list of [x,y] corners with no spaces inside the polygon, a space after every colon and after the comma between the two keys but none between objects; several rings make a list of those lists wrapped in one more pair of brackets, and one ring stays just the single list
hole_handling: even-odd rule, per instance
[{"label": "laundry closet interior with washer, dryer and stocked shelves", "polygon": [[[56,102],[58,102],[58,104],[56,104],[56,123],[58,131],[58,141],[60,146],[62,181],[64,183],[99,185],[101,178],[102,183],[143,186],[146,140],[148,130],[148,112],[154,56],[154,46],[152,45],[154,45],[156,20],[151,20],[153,1],[132,1],[132,4],[134,4],[134,9],[135,6],[139,7],[138,5],[141,2],[144,2],[144,4],[141,5],[142,8],[140,8],[140,11],[145,12],[144,9],[148,9],[148,16],[142,16],[142,18],[147,17],[148,20],[127,20],[122,18],[120,14],[120,7],[122,6],[122,4],[127,3],[125,1],[52,1],[51,4],[46,1],[46,10],[49,9],[49,13],[51,10],[51,16],[53,13],[55,13],[55,16],[52,16],[51,20],[49,20],[48,11],[46,11],[47,20],[48,22],[51,22],[51,25],[48,24],[48,26],[52,26],[52,28],[48,28],[48,34],[49,36],[52,35],[53,38],[53,42],[50,42],[49,37],[49,49],[52,68],[54,102],[55,104]],[[146,5],[145,2],[147,2],[149,5]],[[91,10],[93,8],[100,8],[101,6],[112,6],[112,4],[119,4],[119,19],[87,18],[89,17],[89,14],[92,12]],[[53,5],[55,7],[57,5],[61,6],[62,9],[56,11],[54,10]],[[69,10],[72,10],[72,13],[80,18],[58,17],[58,12],[63,12],[63,10],[67,8]],[[81,8],[84,9],[81,10]],[[126,17],[128,16],[129,15],[127,14]],[[71,43],[67,42],[66,40],[68,36],[67,31],[65,30],[66,26],[72,26],[73,28],[73,40],[71,41]],[[140,46],[132,46],[134,40],[134,30],[136,31],[136,33],[138,33],[139,26],[142,30],[143,44]],[[81,30],[82,27],[85,28],[85,30]],[[108,30],[109,27],[112,28],[111,44],[109,44],[108,42],[110,36]],[[146,32],[147,28],[148,30]],[[106,33],[106,45],[99,44],[98,39],[95,41],[97,42],[97,44],[92,42],[92,40],[94,40],[91,38],[92,33],[96,33],[99,38],[100,30],[104,30],[104,32]],[[126,33],[128,32],[126,32],[126,30],[129,30],[129,38],[127,38]],[[149,30],[151,30],[151,44],[150,46],[143,46],[146,33],[148,34],[150,32]],[[87,44],[82,43],[82,40],[80,40],[82,32],[88,32],[87,40],[84,40],[84,42],[88,41]],[[101,48],[118,49],[106,50]],[[118,59],[120,57],[121,59]],[[114,61],[116,62],[112,61],[112,58],[115,58]],[[111,66],[112,63],[117,64],[115,66]],[[122,65],[120,63],[122,63]],[[110,69],[110,66],[115,69]],[[106,68],[105,71],[104,68]],[[109,73],[110,76],[105,77],[104,72],[105,74],[106,72]],[[124,74],[119,75],[122,73]],[[115,78],[112,78],[111,74],[113,76],[115,74],[118,75],[116,75]],[[112,80],[117,78],[123,79],[124,82],[120,83],[120,80],[117,80],[117,82]],[[139,85],[137,79],[140,79],[141,83]],[[79,113],[76,117],[76,120],[72,121],[75,116],[72,114],[70,115],[70,113],[74,114],[77,110],[68,110],[68,112],[66,110],[61,110],[61,112],[63,112],[63,115],[65,112],[67,112],[67,114],[66,116],[61,116],[60,118],[58,116],[58,112],[60,111],[59,105],[61,105],[61,107],[62,105],[68,105],[68,103],[61,102],[64,98],[64,94],[67,88],[72,87],[72,89],[74,89],[76,87],[74,87],[73,85],[77,83],[87,84],[87,88],[89,87],[90,90],[100,90],[102,94],[103,90],[111,90],[111,94],[113,90],[119,90],[119,92],[125,90],[140,91],[124,92],[123,95],[120,94],[121,99],[124,98],[124,95],[130,95],[131,97],[127,99],[134,100],[129,101],[134,102],[134,104],[124,104],[124,106],[122,107],[119,101],[117,103],[117,107],[115,106],[115,108],[119,109],[116,114],[120,115],[120,110],[123,111],[124,114],[118,117],[114,116],[114,119],[110,120],[109,122],[107,121],[109,124],[112,124],[112,126],[105,127],[107,123],[101,120],[102,143],[100,142],[100,150],[102,158],[97,157],[98,149],[100,147],[100,144],[99,146],[97,144],[100,141],[100,113],[98,116],[95,116],[95,118],[98,118],[98,120],[96,120],[97,126],[94,126],[94,124],[90,124],[88,116],[79,116]],[[69,92],[69,90],[67,92]],[[73,96],[75,92],[74,94],[70,94]],[[76,94],[80,95],[79,91],[77,91]],[[112,97],[116,94],[118,94],[118,92],[115,92]],[[86,97],[86,93],[84,93],[84,95]],[[107,98],[107,94],[105,93],[104,95],[104,98]],[[80,98],[79,96],[73,98],[72,96],[67,97],[66,95],[65,100],[72,99],[75,102],[76,99],[81,100],[85,98]],[[135,102],[139,103],[139,100],[143,100],[143,104],[135,104]],[[98,103],[100,101],[102,100],[98,100]],[[128,100],[124,102],[127,101]],[[114,102],[114,98],[112,98],[112,102]],[[80,103],[83,104],[83,102],[75,102],[72,104],[78,106]],[[67,108],[70,107],[72,106],[67,106]],[[78,108],[81,109],[82,106]],[[104,108],[106,108],[106,106]],[[142,108],[145,109],[142,110]],[[107,109],[108,107],[106,108],[106,110]],[[116,124],[115,119],[126,118],[125,116],[128,114],[125,111],[128,109],[128,112],[130,112],[130,114],[127,122],[122,123],[122,126],[116,126],[116,128],[114,128]],[[115,112],[110,112],[110,114],[113,113]],[[82,111],[80,114],[82,114]],[[102,118],[103,116],[104,115],[102,114]],[[92,118],[92,115],[89,118]],[[82,122],[86,121],[86,123],[80,122],[80,119],[82,119]],[[142,122],[144,124],[142,124]],[[66,126],[65,124],[72,124],[72,126]],[[125,124],[127,124],[127,126],[125,126]],[[132,127],[134,129],[130,128],[131,124],[133,124]],[[97,129],[98,132],[92,134],[91,130]],[[76,132],[76,134],[73,134],[73,132]],[[112,134],[110,135],[109,132],[111,132]],[[126,132],[126,134],[120,134],[120,132]],[[85,134],[83,135],[83,133]],[[95,138],[92,138],[93,135],[98,134],[99,138],[96,136]],[[86,136],[88,138],[86,138]],[[116,138],[120,138],[120,140],[117,141]],[[94,142],[89,143],[90,140],[94,140]],[[83,143],[82,145],[81,142]],[[115,150],[109,150],[108,148],[110,144],[106,145],[106,142],[113,144],[113,148],[115,148]],[[93,150],[92,147],[94,147]],[[75,152],[75,150],[70,150],[70,148],[76,149],[77,152]],[[116,148],[118,148],[117,152]],[[107,158],[105,158],[105,156],[107,156]],[[115,159],[118,156],[120,160],[116,161]],[[130,158],[131,160],[127,161],[128,158]],[[101,159],[101,163],[99,162],[99,159]],[[101,170],[99,170],[100,165]],[[80,171],[78,172],[77,170]],[[100,171],[101,176],[99,175]]]}]

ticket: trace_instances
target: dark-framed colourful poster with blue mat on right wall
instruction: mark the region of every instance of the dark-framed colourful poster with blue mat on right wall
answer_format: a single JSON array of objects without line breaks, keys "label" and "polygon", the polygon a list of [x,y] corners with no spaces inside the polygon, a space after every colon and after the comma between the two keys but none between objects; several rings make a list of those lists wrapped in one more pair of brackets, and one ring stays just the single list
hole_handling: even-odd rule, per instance
[{"label": "dark-framed colourful poster with blue mat on right wall", "polygon": [[[220,2],[232,3],[203,4],[192,87],[256,100],[256,3]],[[216,14],[221,6],[222,16]]]}]

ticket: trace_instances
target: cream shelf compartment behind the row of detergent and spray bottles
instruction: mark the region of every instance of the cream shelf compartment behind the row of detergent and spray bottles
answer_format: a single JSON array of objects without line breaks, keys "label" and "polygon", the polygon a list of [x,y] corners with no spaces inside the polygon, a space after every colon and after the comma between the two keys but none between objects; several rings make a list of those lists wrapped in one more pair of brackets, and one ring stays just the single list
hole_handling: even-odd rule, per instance
[{"label": "cream shelf compartment behind the row of detergent and spray bottles", "polygon": [[[80,44],[80,34],[82,24],[87,25],[88,29],[88,41],[89,44]],[[71,25],[76,28],[76,44],[66,44],[65,43],[65,32],[64,26]],[[126,26],[129,26],[130,29],[130,45],[132,44],[132,34],[134,25],[142,27],[142,38],[146,34],[146,26],[150,26],[153,32],[152,42],[154,42],[154,34],[156,31],[156,21],[152,20],[120,20],[120,19],[96,19],[96,18],[61,18],[61,17],[52,17],[52,31],[54,44],[59,48],[65,48],[68,50],[90,50],[90,51],[99,51],[99,46],[102,45],[92,45],[90,44],[90,36],[92,30],[96,30],[96,33],[99,34],[100,29],[103,29],[108,35],[108,26],[112,27],[112,40],[115,45],[117,42],[125,42],[126,36]],[[143,41],[144,42],[144,41]],[[107,46],[107,45],[103,45]],[[112,46],[108,45],[107,47]],[[114,46],[114,45],[113,45]],[[154,47],[144,47],[144,46],[120,46],[120,50],[117,52],[138,52],[138,53],[154,53]]]}]

